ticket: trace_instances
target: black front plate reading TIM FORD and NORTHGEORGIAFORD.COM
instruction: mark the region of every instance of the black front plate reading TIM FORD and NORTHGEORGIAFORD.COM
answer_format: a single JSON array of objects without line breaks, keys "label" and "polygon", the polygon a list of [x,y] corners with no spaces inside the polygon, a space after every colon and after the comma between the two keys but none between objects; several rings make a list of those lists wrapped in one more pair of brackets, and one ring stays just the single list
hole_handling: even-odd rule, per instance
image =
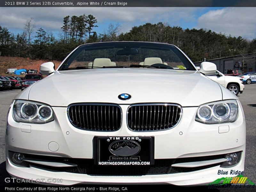
[{"label": "black front plate reading TIM FORD and NORTHGEORGIAFORD.COM", "polygon": [[152,165],[154,137],[95,137],[97,165]]}]

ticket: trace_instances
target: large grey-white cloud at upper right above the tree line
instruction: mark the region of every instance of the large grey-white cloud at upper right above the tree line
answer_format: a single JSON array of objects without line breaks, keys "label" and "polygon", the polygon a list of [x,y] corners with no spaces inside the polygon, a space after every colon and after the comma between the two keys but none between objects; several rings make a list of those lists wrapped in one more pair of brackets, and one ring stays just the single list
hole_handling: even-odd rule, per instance
[{"label": "large grey-white cloud at upper right above the tree line", "polygon": [[255,18],[256,7],[227,7],[203,14],[196,27],[253,39],[256,37]]}]

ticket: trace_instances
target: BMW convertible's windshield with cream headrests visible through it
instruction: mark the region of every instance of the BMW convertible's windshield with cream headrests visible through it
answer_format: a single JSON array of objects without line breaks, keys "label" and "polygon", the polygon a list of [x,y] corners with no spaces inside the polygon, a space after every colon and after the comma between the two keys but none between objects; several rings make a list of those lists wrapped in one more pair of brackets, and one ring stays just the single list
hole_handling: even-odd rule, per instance
[{"label": "BMW convertible's windshield with cream headrests visible through it", "polygon": [[196,70],[175,46],[148,42],[82,45],[63,62],[59,70],[125,67]]}]

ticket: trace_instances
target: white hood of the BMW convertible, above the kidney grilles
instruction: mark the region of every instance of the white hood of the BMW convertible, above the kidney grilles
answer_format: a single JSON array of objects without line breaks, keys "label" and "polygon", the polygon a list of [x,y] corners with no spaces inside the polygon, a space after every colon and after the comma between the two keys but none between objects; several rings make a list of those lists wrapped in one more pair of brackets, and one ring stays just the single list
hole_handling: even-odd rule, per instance
[{"label": "white hood of the BMW convertible, above the kidney grilles", "polygon": [[[130,94],[131,99],[118,99],[122,93]],[[56,71],[31,85],[28,99],[51,106],[167,102],[185,107],[222,100],[222,92],[219,84],[198,71],[105,68]]]}]

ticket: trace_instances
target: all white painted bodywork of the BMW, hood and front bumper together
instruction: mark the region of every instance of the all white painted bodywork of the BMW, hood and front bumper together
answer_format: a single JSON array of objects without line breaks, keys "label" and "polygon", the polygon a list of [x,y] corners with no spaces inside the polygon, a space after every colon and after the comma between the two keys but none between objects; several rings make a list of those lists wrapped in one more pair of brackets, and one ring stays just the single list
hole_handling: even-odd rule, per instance
[{"label": "all white painted bodywork of the BMW, hood and front bumper together", "polygon": [[[187,56],[185,56],[187,58]],[[67,57],[68,58],[68,57]],[[66,58],[66,59],[67,59]],[[190,61],[190,60],[189,60]],[[65,60],[62,62],[62,64]],[[190,61],[191,62],[191,61]],[[194,64],[191,62],[191,65]],[[60,67],[58,68],[60,69]],[[244,170],[246,125],[242,105],[236,95],[208,79],[198,70],[168,70],[154,68],[102,68],[55,71],[29,86],[15,100],[37,101],[50,105],[54,120],[45,124],[17,122],[12,116],[13,103],[7,117],[6,170],[16,178],[62,179],[62,185],[83,183],[168,183],[174,185],[208,184],[223,177],[219,170]],[[238,78],[237,78],[238,79]],[[118,95],[128,93],[129,100]],[[236,100],[238,116],[234,122],[204,124],[195,121],[198,107],[205,103]],[[67,108],[73,103],[115,103],[122,110],[120,129],[113,132],[78,129],[68,119]],[[175,103],[181,106],[179,123],[167,130],[136,132],[128,128],[127,109],[134,103]],[[21,126],[30,126],[30,132]],[[24,127],[24,126],[23,126]],[[223,128],[222,128],[223,127]],[[227,129],[228,127],[228,129]],[[196,171],[136,176],[89,175],[72,172],[54,172],[49,169],[19,167],[11,162],[8,151],[47,158],[93,159],[95,136],[154,137],[154,159],[203,158],[241,151],[240,161],[229,168],[220,165]],[[50,147],[49,147],[50,146]],[[30,160],[34,162],[33,160]],[[200,160],[197,160],[200,161]],[[216,161],[222,162],[223,158]],[[41,164],[47,164],[42,162]],[[53,163],[55,164],[55,163]],[[56,165],[58,162],[56,163]],[[200,162],[191,162],[194,167]],[[65,164],[59,164],[65,166]],[[73,166],[73,164],[69,164]],[[170,165],[171,166],[171,165]],[[182,164],[180,165],[182,166]],[[115,169],[114,166],[112,169]],[[232,177],[228,174],[224,177]]]}]

